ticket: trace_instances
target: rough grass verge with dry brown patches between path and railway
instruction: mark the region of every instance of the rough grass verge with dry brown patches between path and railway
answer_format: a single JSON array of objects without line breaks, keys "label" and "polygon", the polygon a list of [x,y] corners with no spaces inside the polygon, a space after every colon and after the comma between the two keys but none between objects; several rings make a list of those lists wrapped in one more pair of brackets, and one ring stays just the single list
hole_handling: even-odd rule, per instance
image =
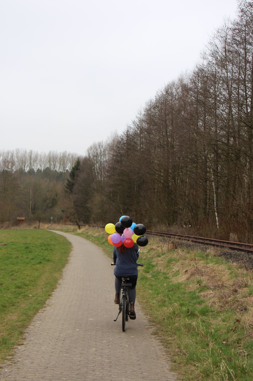
[{"label": "rough grass verge with dry brown patches between path and railway", "polygon": [[[102,229],[72,230],[112,257]],[[140,248],[144,267],[137,297],[174,360],[174,370],[187,381],[252,380],[252,272],[211,251],[165,246],[161,239],[150,238]]]}]

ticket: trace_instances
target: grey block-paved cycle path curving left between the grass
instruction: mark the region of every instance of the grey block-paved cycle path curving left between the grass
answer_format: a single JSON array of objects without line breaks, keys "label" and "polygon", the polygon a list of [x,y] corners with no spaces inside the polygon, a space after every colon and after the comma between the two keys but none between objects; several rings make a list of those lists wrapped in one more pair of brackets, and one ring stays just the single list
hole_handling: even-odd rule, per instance
[{"label": "grey block-paved cycle path curving left between the grass", "polygon": [[136,320],[126,322],[125,332],[121,316],[114,322],[118,306],[113,302],[110,259],[82,237],[54,233],[72,243],[70,260],[51,298],[28,327],[24,344],[0,368],[0,380],[176,381],[137,302]]}]

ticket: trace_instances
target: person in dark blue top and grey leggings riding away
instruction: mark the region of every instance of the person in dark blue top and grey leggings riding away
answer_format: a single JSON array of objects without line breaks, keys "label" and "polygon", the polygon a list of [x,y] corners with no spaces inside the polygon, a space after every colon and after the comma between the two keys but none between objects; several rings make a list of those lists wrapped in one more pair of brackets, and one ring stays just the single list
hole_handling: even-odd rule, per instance
[{"label": "person in dark blue top and grey leggings riding away", "polygon": [[137,243],[134,243],[133,247],[126,248],[123,244],[120,247],[113,248],[112,259],[113,263],[116,264],[114,269],[115,275],[115,299],[114,303],[119,303],[119,292],[122,283],[122,277],[129,277],[132,286],[129,290],[129,301],[130,301],[130,319],[136,319],[136,314],[134,311],[134,303],[136,299],[136,283],[138,278],[137,260],[139,258],[139,247]]}]

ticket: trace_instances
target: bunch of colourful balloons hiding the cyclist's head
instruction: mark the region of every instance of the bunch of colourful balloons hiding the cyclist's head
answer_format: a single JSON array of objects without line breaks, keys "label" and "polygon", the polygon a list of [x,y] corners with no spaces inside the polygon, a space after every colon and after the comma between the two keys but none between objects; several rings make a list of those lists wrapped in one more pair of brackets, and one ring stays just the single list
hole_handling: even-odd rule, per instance
[{"label": "bunch of colourful balloons hiding the cyclist's head", "polygon": [[107,224],[105,226],[106,233],[110,234],[108,242],[111,245],[119,247],[122,245],[130,248],[136,242],[138,246],[146,246],[149,242],[145,237],[146,228],[142,224],[136,224],[129,216],[121,216],[119,222]]}]

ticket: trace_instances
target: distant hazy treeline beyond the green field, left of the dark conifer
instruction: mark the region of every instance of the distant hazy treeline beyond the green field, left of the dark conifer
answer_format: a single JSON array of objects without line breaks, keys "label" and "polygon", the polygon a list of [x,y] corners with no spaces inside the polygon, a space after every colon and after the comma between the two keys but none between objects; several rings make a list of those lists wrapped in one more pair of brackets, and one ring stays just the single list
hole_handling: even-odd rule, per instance
[{"label": "distant hazy treeline beyond the green field, left of the dark conifer", "polygon": [[62,220],[64,187],[76,160],[68,152],[0,151],[0,223]]}]

